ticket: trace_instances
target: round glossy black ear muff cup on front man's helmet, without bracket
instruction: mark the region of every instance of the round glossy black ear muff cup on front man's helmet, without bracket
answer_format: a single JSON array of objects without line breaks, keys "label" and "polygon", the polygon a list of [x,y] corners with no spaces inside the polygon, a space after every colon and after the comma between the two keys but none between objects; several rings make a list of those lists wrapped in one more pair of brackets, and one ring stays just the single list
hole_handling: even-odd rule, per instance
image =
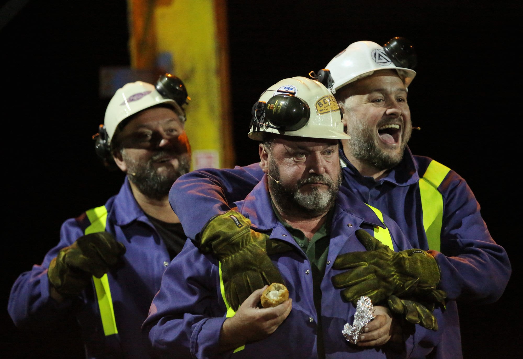
[{"label": "round glossy black ear muff cup on front man's helmet, without bracket", "polygon": [[301,129],[309,121],[310,114],[309,106],[290,94],[272,96],[265,108],[265,120],[282,131]]}]

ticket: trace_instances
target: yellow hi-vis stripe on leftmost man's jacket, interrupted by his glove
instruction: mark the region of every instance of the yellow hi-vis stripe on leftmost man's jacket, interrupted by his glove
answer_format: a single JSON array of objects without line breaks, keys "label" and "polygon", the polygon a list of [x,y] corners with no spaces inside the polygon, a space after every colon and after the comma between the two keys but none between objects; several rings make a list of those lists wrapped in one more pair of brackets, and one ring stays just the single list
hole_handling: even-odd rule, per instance
[{"label": "yellow hi-vis stripe on leftmost man's jacket, interrupted by his glove", "polygon": [[[107,209],[105,206],[96,207],[85,212],[91,225],[85,228],[85,234],[103,232],[107,222]],[[111,290],[107,274],[100,279],[93,276],[95,282],[96,297],[98,298],[98,307],[100,308],[101,324],[104,328],[104,334],[118,334],[116,328],[115,310],[112,307]]]}]

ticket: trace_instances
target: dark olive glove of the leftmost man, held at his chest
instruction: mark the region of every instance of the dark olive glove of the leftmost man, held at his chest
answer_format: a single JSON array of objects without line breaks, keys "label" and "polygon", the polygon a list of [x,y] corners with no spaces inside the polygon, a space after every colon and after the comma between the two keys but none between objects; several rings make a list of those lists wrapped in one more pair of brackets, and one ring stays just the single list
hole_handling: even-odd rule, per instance
[{"label": "dark olive glove of the leftmost man, held at his chest", "polygon": [[126,247],[108,232],[92,233],[62,248],[49,264],[49,282],[64,297],[78,295],[94,275],[100,278],[115,265]]}]

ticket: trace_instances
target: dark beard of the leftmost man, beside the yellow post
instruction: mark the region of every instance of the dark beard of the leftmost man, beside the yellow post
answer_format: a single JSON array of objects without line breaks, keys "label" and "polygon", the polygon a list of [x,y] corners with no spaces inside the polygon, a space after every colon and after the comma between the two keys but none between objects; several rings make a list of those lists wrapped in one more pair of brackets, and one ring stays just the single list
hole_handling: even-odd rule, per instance
[{"label": "dark beard of the leftmost man, beside the yellow post", "polygon": [[122,156],[128,166],[127,178],[145,196],[154,200],[163,200],[168,194],[174,181],[181,175],[189,172],[190,163],[187,154],[178,155],[178,168],[167,166],[167,171],[158,175],[153,166],[155,158],[161,158],[166,153],[158,153],[145,163],[139,163],[126,156],[123,151]]}]

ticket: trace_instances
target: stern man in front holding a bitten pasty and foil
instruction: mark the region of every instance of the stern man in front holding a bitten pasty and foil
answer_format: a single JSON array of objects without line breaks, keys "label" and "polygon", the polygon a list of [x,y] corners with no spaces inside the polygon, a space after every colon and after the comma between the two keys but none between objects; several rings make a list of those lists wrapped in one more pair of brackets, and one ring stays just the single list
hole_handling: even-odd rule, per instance
[{"label": "stern man in front holding a bitten pasty and foil", "polygon": [[[151,355],[388,357],[391,347],[377,351],[372,346],[388,342],[397,329],[385,307],[374,307],[376,318],[356,345],[343,337],[356,308],[332,285],[340,271],[331,262],[338,253],[364,250],[358,238],[384,234],[385,228],[386,248],[400,251],[410,244],[388,216],[340,188],[338,140],[350,137],[331,92],[305,77],[281,80],[255,103],[248,136],[261,142],[264,177],[235,203],[237,211],[218,215],[204,227],[199,247],[189,241],[167,267],[143,325]],[[199,205],[197,210],[205,210],[206,203]],[[260,271],[265,275],[257,281],[251,274]],[[239,308],[225,294],[231,290],[225,272],[236,273],[234,283],[249,281],[247,297],[237,292]],[[271,284],[268,277],[285,284],[288,296],[260,308],[260,296]],[[285,293],[275,287],[273,292]],[[435,345],[439,333],[425,330],[423,335],[422,330],[393,341],[405,341],[407,352],[420,341]]]}]

